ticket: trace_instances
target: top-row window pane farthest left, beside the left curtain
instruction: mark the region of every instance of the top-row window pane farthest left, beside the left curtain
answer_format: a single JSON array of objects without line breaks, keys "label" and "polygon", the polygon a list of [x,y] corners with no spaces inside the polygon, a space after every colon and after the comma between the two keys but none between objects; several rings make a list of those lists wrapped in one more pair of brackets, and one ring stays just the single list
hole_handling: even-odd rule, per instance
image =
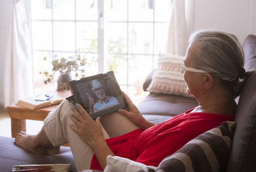
[{"label": "top-row window pane farthest left, beside the left curtain", "polygon": [[31,1],[31,18],[51,20],[52,18],[52,1],[51,0],[40,0]]}]

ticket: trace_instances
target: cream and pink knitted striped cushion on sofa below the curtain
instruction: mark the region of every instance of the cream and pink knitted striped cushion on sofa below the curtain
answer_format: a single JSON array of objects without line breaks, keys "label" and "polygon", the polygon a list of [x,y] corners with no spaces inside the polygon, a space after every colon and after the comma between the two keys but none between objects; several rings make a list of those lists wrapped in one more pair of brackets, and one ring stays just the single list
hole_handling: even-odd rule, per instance
[{"label": "cream and pink knitted striped cushion on sofa below the curtain", "polygon": [[147,90],[154,93],[191,97],[187,93],[186,83],[180,73],[180,64],[183,59],[183,56],[160,54],[158,68]]}]

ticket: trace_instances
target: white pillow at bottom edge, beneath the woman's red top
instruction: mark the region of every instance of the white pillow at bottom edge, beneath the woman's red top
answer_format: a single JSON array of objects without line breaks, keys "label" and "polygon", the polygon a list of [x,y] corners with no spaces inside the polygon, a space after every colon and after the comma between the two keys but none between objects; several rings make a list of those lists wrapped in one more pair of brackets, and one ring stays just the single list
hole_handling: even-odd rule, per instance
[{"label": "white pillow at bottom edge, beneath the woman's red top", "polygon": [[130,172],[130,171],[139,171],[140,169],[150,167],[153,169],[156,169],[155,166],[147,166],[145,164],[142,164],[140,162],[131,161],[131,159],[118,157],[118,156],[111,156],[108,155],[107,157],[107,166],[104,169],[104,172],[116,172],[116,171],[122,171],[122,172]]}]

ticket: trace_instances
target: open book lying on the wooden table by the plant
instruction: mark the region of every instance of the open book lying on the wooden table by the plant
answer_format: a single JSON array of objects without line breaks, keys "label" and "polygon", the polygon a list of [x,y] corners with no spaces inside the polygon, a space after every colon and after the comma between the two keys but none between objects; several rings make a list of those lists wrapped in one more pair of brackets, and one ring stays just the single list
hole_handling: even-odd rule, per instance
[{"label": "open book lying on the wooden table by the plant", "polygon": [[59,96],[53,96],[45,101],[36,101],[35,97],[25,97],[23,99],[20,99],[16,104],[25,108],[29,108],[31,110],[35,110],[38,108],[52,106],[54,104],[60,104],[63,100],[64,98]]}]

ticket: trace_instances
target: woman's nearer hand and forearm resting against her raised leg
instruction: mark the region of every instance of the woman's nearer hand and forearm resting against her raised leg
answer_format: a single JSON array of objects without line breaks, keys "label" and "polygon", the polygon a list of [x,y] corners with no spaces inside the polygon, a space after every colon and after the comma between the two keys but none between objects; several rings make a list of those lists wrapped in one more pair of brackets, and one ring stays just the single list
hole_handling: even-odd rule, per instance
[{"label": "woman's nearer hand and forearm resting against her raised leg", "polygon": [[93,120],[80,104],[72,108],[72,111],[74,115],[70,117],[74,124],[71,124],[70,128],[92,148],[100,167],[104,170],[108,155],[114,156],[114,154],[104,140],[100,118]]}]

